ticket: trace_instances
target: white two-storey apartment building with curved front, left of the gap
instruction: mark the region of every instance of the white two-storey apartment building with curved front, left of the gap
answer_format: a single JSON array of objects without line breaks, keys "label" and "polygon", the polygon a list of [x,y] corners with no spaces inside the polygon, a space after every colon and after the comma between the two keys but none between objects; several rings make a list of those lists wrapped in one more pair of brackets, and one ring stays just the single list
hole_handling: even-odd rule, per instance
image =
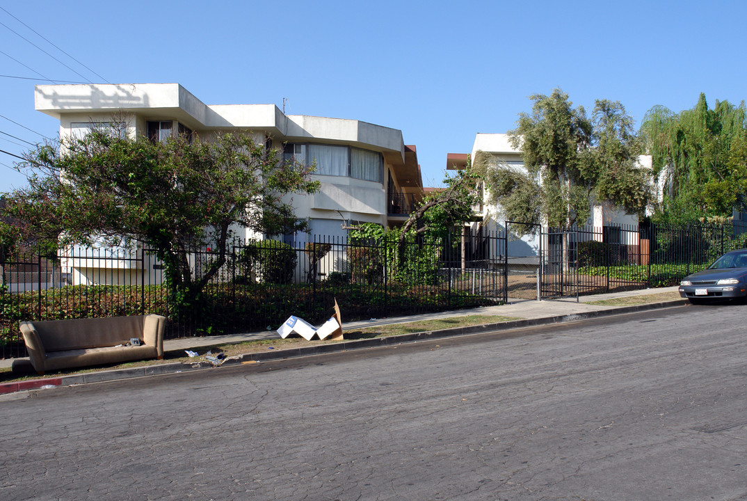
[{"label": "white two-storey apartment building with curved front, left of the gap", "polygon": [[[37,85],[34,102],[38,111],[60,120],[61,138],[112,120],[124,120],[128,135],[147,135],[154,141],[177,133],[209,140],[220,132],[241,131],[282,148],[286,158],[315,162],[320,190],[288,195],[297,217],[309,220],[309,233],[285,236],[297,246],[318,236],[345,237],[347,227],[356,222],[403,224],[412,204],[423,196],[416,149],[390,127],[286,115],[271,104],[206,105],[180,84]],[[258,237],[241,231],[244,240]],[[87,260],[85,265],[96,268],[98,262]]]}]

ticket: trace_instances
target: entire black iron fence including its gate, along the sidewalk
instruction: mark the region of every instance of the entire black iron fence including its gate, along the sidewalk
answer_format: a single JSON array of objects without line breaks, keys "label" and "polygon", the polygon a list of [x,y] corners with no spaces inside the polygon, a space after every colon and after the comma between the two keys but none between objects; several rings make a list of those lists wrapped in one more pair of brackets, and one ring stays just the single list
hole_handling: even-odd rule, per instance
[{"label": "entire black iron fence including its gate, along the sidewalk", "polygon": [[[510,225],[506,225],[511,229]],[[504,226],[504,228],[506,227]],[[290,315],[314,324],[335,298],[347,321],[676,285],[721,253],[747,246],[747,225],[537,228],[532,251],[512,255],[506,232],[449,233],[399,242],[321,237],[229,249],[226,264],[180,304],[155,252],[66,248],[56,256],[0,250],[0,356],[25,356],[21,320],[159,313],[167,338],[274,330]],[[195,277],[217,259],[187,256]]]}]

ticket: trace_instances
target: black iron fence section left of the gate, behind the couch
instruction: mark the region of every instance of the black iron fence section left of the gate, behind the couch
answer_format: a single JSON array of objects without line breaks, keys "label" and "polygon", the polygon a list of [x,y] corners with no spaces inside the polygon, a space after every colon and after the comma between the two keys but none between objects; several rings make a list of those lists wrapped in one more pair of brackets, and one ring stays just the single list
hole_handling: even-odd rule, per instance
[{"label": "black iron fence section left of the gate, behind the couch", "polygon": [[[22,320],[159,313],[170,320],[167,338],[175,338],[273,330],[290,315],[318,324],[331,316],[335,299],[348,321],[500,304],[506,300],[505,236],[482,236],[479,252],[465,240],[471,242],[470,236],[233,245],[189,304],[177,301],[164,263],[143,246],[66,248],[48,259],[21,253],[1,263],[0,354],[25,354]],[[192,280],[219,258],[212,248],[184,257]],[[45,281],[40,262],[64,280]],[[19,280],[21,269],[34,279]]]}]

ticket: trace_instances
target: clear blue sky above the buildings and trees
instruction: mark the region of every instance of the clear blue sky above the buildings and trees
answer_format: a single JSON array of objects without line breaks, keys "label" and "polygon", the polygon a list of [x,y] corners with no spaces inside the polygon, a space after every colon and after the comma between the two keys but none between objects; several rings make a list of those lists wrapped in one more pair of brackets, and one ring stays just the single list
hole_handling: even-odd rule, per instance
[{"label": "clear blue sky above the buildings and trees", "polygon": [[[447,153],[468,153],[477,132],[512,129],[530,94],[555,87],[587,111],[619,100],[636,124],[654,105],[692,108],[701,92],[710,105],[747,98],[744,1],[0,7],[0,150],[14,154],[58,134],[57,120],[34,111],[43,79],[177,82],[208,105],[285,98],[289,114],[393,127],[418,147],[426,185],[440,185]],[[0,153],[0,191],[25,183],[14,161]]]}]

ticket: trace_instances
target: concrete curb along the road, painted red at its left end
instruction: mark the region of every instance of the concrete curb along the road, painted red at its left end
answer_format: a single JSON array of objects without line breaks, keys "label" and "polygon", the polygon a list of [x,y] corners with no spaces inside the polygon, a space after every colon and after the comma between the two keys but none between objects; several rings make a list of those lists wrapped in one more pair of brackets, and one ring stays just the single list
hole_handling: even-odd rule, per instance
[{"label": "concrete curb along the road, painted red at its left end", "polygon": [[[428,339],[440,339],[453,336],[467,336],[470,334],[484,334],[492,331],[509,331],[516,328],[533,327],[535,325],[560,324],[575,322],[584,319],[594,319],[604,316],[623,315],[638,311],[656,310],[660,308],[677,307],[687,304],[687,300],[664,301],[660,303],[639,304],[636,306],[610,308],[608,310],[595,310],[586,313],[570,313],[568,315],[548,316],[539,319],[511,320],[509,322],[498,322],[484,325],[471,325],[443,329],[441,331],[424,331],[413,334],[400,334],[399,336],[373,337],[371,339],[350,339],[343,342],[320,344],[316,346],[305,346],[303,348],[288,348],[284,350],[266,351],[261,353],[249,353],[226,358],[221,366],[234,366],[241,363],[261,363],[270,360],[280,360],[293,357],[307,357],[338,351],[350,351],[362,348],[374,348],[388,345],[399,345],[403,342],[425,341]],[[0,384],[0,395],[15,393],[23,390],[40,390],[58,386],[72,386],[76,384],[101,383],[103,381],[117,381],[120,379],[143,378],[151,375],[176,374],[199,369],[215,369],[212,363],[207,361],[196,361],[195,363],[164,363],[153,366],[133,367],[131,369],[116,369],[108,371],[86,372],[59,376],[56,378],[33,379],[28,381],[16,381]]]}]

